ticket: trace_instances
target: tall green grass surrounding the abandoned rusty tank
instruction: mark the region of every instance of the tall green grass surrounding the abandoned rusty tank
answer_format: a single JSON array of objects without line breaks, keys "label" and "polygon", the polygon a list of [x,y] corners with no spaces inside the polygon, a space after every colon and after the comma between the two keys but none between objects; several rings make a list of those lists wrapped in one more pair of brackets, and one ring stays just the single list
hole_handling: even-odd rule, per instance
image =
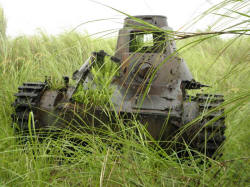
[{"label": "tall green grass surrounding the abandoned rusty tank", "polygon": [[[207,167],[202,155],[200,159],[204,162],[193,157],[182,160],[175,152],[159,154],[159,150],[133,132],[127,137],[107,134],[110,141],[123,143],[122,151],[112,149],[106,141],[91,134],[68,134],[87,141],[85,147],[74,145],[68,138],[49,137],[41,143],[18,144],[11,120],[11,103],[17,87],[25,81],[43,81],[48,75],[52,76],[53,85],[60,85],[62,76],[71,77],[92,51],[104,49],[113,54],[116,41],[93,39],[76,32],[58,36],[39,33],[10,39],[5,36],[3,20],[2,16],[0,186],[249,185],[249,36],[231,39],[213,36],[206,40],[206,36],[199,36],[177,41],[179,53],[195,79],[212,86],[202,92],[222,93],[226,98],[227,139],[223,156],[210,160]],[[140,128],[136,121],[134,125]],[[74,147],[71,157],[65,156],[65,151],[71,152],[68,147]]]}]

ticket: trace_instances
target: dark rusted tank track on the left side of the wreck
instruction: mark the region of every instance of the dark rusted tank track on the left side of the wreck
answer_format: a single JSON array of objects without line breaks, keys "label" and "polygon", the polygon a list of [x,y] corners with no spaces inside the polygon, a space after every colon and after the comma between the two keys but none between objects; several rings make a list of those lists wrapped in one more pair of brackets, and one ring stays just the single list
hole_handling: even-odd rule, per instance
[{"label": "dark rusted tank track on the left side of the wreck", "polygon": [[40,98],[47,87],[46,82],[26,82],[18,87],[15,102],[12,104],[15,111],[11,115],[16,132],[25,133],[29,130],[29,113],[32,111],[36,119]]}]

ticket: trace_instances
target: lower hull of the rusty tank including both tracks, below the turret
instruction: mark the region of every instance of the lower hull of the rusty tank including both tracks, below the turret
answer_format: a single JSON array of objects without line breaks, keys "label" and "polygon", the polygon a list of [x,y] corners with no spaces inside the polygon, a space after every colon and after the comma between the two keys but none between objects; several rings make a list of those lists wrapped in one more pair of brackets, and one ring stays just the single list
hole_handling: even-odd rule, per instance
[{"label": "lower hull of the rusty tank including both tracks, below the turret", "polygon": [[[32,89],[24,88],[27,85]],[[42,85],[42,86],[41,86]],[[38,89],[39,88],[39,89]],[[211,95],[198,95],[183,102],[180,111],[171,110],[143,110],[130,111],[115,110],[101,106],[88,107],[83,103],[76,103],[67,97],[72,87],[64,91],[50,90],[45,83],[24,83],[20,87],[14,103],[15,114],[13,120],[18,132],[29,133],[29,114],[32,111],[34,123],[31,128],[37,132],[58,132],[70,130],[99,136],[108,133],[119,133],[125,129],[143,126],[149,134],[149,142],[158,142],[162,148],[176,150],[183,149],[184,142],[191,149],[198,150],[212,157],[222,145],[225,137],[225,117],[223,110],[210,113],[196,122],[189,124],[204,112],[205,108],[213,109],[223,102],[223,96],[213,96],[215,99],[206,104]],[[34,97],[36,95],[36,97]],[[25,104],[26,103],[26,104]],[[216,119],[218,118],[218,119]],[[213,121],[210,122],[209,121]],[[138,123],[135,125],[135,121]],[[39,133],[38,133],[39,134]],[[43,136],[43,133],[41,133]]]}]

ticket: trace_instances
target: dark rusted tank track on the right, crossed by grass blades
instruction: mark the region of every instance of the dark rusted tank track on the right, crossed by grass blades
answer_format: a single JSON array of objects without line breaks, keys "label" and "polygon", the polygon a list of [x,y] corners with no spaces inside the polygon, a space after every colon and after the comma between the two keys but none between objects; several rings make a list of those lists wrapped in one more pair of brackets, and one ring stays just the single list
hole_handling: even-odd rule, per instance
[{"label": "dark rusted tank track on the right, crossed by grass blades", "polygon": [[220,106],[224,102],[224,97],[223,95],[197,94],[191,100],[198,103],[199,113],[202,116],[196,125],[193,148],[212,158],[216,156],[215,153],[226,138],[224,136],[226,126],[223,108],[214,112],[209,112],[209,110]]}]

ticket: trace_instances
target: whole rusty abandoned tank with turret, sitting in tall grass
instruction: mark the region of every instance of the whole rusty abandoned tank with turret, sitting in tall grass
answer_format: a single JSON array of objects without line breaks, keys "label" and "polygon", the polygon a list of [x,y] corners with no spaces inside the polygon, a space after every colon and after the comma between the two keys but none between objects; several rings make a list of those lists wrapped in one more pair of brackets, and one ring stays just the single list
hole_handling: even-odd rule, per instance
[{"label": "whole rusty abandoned tank with turret, sitting in tall grass", "polygon": [[[114,88],[108,108],[111,115],[101,106],[86,112],[85,103],[73,97],[79,88],[89,89],[93,80],[91,69],[101,66],[105,58],[119,67],[111,82]],[[32,111],[31,128],[36,130],[64,129],[68,124],[104,128],[103,123],[114,123],[117,117],[124,119],[126,126],[129,119],[137,119],[154,140],[162,142],[162,147],[167,147],[166,142],[178,136],[179,142],[209,157],[215,155],[225,140],[225,116],[220,107],[223,95],[187,95],[188,90],[207,86],[194,80],[178,55],[173,31],[164,16],[127,17],[119,30],[114,56],[104,51],[93,52],[74,72],[75,85],[69,85],[69,79],[63,77],[65,86],[58,90],[51,89],[48,80],[27,82],[18,87],[12,115],[16,129],[29,130]],[[79,130],[78,127],[75,130]]]}]

